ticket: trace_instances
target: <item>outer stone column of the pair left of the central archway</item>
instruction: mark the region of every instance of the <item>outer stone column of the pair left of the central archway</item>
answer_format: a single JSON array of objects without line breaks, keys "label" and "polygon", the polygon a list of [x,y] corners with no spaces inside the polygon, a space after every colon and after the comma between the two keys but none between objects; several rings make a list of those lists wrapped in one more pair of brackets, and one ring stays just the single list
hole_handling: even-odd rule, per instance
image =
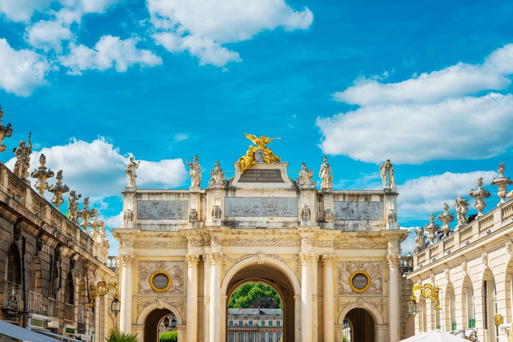
[{"label": "outer stone column of the pair left of the central archway", "polygon": [[187,342],[198,336],[198,254],[187,254]]}]

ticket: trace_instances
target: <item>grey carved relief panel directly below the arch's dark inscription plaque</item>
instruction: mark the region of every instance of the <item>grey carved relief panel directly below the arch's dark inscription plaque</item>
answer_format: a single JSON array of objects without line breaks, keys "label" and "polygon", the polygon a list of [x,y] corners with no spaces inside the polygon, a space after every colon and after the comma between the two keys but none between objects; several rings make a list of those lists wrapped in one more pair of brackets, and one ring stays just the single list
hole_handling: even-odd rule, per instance
[{"label": "grey carved relief panel directly below the arch's dark inscription plaque", "polygon": [[297,213],[297,198],[225,198],[225,216],[284,216],[295,218]]}]

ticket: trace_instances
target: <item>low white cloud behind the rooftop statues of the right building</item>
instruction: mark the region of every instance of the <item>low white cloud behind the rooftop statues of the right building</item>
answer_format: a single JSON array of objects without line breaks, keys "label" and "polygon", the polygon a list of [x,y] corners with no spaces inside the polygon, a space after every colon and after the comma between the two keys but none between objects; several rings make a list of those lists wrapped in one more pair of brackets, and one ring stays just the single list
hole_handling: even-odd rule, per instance
[{"label": "low white cloud behind the rooftop statues of the right building", "polygon": [[471,189],[477,189],[477,179],[481,177],[483,177],[484,189],[492,194],[490,198],[485,199],[488,209],[492,209],[499,202],[499,198],[496,195],[497,186],[490,185],[490,182],[492,177],[497,176],[498,173],[495,171],[445,172],[435,176],[410,179],[398,186],[398,191],[401,194],[397,199],[398,213],[403,219],[425,215],[427,223],[429,222],[429,213],[442,211],[444,202],[449,205],[449,211],[454,211],[454,201],[458,196],[466,198],[471,203],[468,207],[469,212],[475,211],[473,209],[475,200],[468,194]]}]

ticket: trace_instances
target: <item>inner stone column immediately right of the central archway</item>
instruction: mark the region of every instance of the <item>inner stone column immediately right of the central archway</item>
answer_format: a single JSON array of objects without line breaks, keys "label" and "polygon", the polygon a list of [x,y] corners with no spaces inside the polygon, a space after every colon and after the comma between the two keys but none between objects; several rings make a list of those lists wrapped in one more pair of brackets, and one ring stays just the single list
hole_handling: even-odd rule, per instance
[{"label": "inner stone column immediately right of the central archway", "polygon": [[312,341],[312,277],[314,255],[301,252],[301,341]]}]

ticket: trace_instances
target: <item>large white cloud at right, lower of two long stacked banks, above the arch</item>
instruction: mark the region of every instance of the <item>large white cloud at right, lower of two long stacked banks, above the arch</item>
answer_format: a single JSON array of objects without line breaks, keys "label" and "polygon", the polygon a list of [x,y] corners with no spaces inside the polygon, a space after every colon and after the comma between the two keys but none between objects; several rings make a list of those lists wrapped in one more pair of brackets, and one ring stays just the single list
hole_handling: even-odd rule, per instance
[{"label": "large white cloud at right, lower of two long stacked banks, above the arch", "polygon": [[[513,147],[511,94],[449,98],[433,105],[375,105],[318,118],[323,153],[379,163],[484,159]],[[479,138],[475,136],[479,135]],[[348,139],[348,137],[350,137]]]}]

